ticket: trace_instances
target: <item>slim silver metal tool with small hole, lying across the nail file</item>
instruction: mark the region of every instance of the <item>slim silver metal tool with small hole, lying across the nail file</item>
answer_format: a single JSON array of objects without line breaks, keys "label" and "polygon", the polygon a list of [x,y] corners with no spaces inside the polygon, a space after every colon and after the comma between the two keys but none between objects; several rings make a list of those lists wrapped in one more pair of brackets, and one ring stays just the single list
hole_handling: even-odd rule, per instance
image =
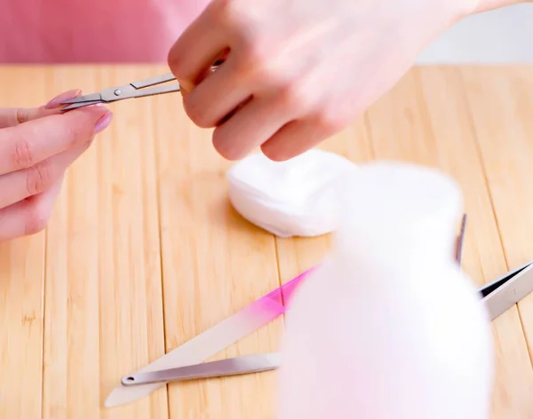
[{"label": "slim silver metal tool with small hole, lying across the nail file", "polygon": [[242,376],[279,368],[281,356],[277,352],[258,353],[227,360],[203,362],[187,367],[163,369],[147,373],[123,376],[121,383],[129,387],[149,383],[197,380],[221,376]]}]

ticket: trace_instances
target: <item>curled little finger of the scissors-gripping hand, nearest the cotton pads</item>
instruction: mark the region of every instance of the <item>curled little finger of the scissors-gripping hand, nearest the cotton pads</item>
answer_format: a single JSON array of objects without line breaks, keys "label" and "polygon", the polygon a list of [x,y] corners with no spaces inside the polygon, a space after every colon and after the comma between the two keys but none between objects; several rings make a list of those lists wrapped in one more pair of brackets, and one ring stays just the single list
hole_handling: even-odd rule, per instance
[{"label": "curled little finger of the scissors-gripping hand, nearest the cotton pads", "polygon": [[287,123],[262,146],[261,151],[275,162],[289,160],[316,146],[338,131],[338,126],[306,119]]}]

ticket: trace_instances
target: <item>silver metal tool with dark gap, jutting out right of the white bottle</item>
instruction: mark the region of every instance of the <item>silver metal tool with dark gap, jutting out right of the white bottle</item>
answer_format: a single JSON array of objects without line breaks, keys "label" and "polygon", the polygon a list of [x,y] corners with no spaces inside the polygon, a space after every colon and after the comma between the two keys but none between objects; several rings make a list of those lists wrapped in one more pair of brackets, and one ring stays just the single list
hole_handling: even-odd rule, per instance
[{"label": "silver metal tool with dark gap, jutting out right of the white bottle", "polygon": [[489,311],[490,320],[496,319],[533,292],[533,261],[505,273],[496,281],[481,287],[479,291],[481,302]]}]

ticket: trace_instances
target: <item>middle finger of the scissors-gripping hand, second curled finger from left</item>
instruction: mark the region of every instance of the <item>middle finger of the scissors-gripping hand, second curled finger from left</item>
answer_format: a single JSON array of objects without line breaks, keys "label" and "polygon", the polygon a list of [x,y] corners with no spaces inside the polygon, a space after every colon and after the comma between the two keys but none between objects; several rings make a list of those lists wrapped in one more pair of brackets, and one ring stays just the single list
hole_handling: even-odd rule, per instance
[{"label": "middle finger of the scissors-gripping hand, second curled finger from left", "polygon": [[239,73],[235,71],[235,59],[230,55],[222,66],[187,94],[183,104],[190,119],[201,128],[217,126],[251,97],[250,87],[239,78]]}]

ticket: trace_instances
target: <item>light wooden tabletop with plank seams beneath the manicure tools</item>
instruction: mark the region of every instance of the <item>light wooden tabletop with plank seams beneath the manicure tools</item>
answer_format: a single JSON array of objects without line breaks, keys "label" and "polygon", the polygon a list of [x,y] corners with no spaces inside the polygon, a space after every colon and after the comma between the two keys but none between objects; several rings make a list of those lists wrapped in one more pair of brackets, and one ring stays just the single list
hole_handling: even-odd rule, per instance
[{"label": "light wooden tabletop with plank seams beneath the manicure tools", "polygon": [[[491,281],[533,259],[533,67],[418,67],[324,142],[354,162],[449,172],[469,215],[464,266]],[[0,106],[33,106],[165,67],[1,67]],[[226,162],[178,94],[125,100],[68,170],[43,233],[0,244],[0,417],[274,418],[275,373],[171,384],[106,409],[142,368],[318,263],[329,237],[275,239],[227,200]],[[533,296],[493,321],[493,418],[533,417]],[[278,348],[282,319],[218,358]]]}]

